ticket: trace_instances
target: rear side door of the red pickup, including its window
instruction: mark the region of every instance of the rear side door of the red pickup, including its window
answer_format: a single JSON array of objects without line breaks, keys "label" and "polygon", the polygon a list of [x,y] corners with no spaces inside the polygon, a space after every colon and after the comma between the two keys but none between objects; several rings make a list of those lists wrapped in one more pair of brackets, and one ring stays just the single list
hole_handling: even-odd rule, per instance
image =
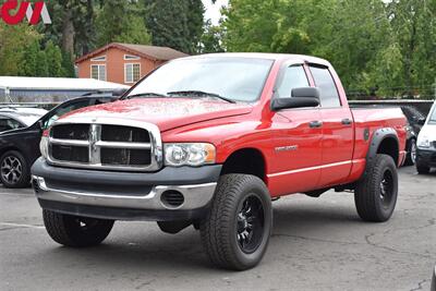
[{"label": "rear side door of the red pickup, including its window", "polygon": [[350,174],[354,147],[354,126],[351,110],[327,66],[310,65],[315,86],[320,92],[323,120],[323,157],[319,186],[343,182]]}]

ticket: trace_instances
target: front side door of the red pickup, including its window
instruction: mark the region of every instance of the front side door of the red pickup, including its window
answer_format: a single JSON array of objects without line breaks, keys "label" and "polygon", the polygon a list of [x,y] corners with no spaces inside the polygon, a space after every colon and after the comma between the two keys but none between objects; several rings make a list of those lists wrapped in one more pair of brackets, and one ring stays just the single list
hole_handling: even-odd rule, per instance
[{"label": "front side door of the red pickup, including its window", "polygon": [[[291,90],[310,86],[302,64],[286,65],[276,84],[275,97],[291,97]],[[320,177],[322,117],[319,108],[279,110],[275,129],[274,163],[268,174],[272,195],[316,189]]]}]

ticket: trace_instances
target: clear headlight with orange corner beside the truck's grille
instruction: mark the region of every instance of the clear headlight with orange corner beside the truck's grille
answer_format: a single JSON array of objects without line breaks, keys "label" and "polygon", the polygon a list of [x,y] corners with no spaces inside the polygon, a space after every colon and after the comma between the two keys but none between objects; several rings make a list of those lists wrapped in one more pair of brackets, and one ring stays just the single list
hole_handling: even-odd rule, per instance
[{"label": "clear headlight with orange corner beside the truck's grille", "polygon": [[215,162],[215,146],[205,143],[165,144],[165,165],[202,166]]}]

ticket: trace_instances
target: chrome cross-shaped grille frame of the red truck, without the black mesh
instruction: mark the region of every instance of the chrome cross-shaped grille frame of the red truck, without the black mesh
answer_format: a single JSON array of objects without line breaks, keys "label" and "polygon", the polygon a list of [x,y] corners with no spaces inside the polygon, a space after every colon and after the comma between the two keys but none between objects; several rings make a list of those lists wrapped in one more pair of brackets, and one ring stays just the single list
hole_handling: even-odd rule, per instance
[{"label": "chrome cross-shaped grille frame of the red truck, without the black mesh", "polygon": [[[48,163],[59,167],[80,168],[80,169],[95,169],[95,170],[120,170],[120,171],[157,171],[161,169],[162,162],[162,142],[160,131],[157,125],[147,122],[137,122],[129,119],[117,118],[74,118],[71,117],[64,120],[58,120],[53,126],[61,124],[89,124],[89,140],[60,140],[51,137],[51,130],[49,133],[49,155]],[[119,125],[136,128],[148,131],[149,143],[129,143],[129,142],[106,142],[101,141],[101,126],[104,125]],[[64,146],[82,146],[88,147],[89,162],[73,162],[57,160],[51,155],[51,145]],[[125,149],[149,149],[150,163],[145,166],[108,166],[101,165],[101,148],[125,148]]]}]

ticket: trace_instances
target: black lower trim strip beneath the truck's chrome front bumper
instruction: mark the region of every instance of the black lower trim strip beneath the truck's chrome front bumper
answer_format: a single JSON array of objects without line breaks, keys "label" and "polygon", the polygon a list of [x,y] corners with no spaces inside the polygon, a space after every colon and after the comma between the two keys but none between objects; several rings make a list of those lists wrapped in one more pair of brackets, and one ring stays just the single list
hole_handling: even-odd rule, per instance
[{"label": "black lower trim strip beneath the truck's chrome front bumper", "polygon": [[88,206],[38,199],[43,209],[55,213],[111,220],[179,221],[196,220],[206,216],[208,207],[193,210],[144,210],[116,207]]}]

